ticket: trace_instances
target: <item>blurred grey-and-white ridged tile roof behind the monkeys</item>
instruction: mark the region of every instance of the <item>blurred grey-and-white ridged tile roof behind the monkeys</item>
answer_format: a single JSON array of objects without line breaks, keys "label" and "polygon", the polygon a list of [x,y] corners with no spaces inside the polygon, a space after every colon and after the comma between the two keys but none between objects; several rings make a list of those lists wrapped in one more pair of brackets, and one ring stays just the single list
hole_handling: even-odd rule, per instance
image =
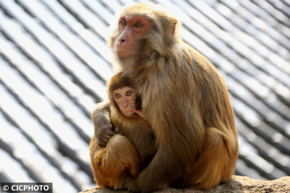
[{"label": "blurred grey-and-white ridged tile roof behind the monkeys", "polygon": [[[0,182],[93,188],[90,112],[112,75],[107,26],[132,0],[0,0]],[[163,0],[224,76],[236,174],[290,175],[290,1]]]}]

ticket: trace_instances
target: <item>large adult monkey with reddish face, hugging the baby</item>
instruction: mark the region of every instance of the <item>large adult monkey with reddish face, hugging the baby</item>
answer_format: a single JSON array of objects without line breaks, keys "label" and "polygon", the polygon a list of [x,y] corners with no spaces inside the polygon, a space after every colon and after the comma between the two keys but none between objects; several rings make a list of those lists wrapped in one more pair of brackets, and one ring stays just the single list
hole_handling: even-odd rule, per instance
[{"label": "large adult monkey with reddish face, hugging the baby", "polygon": [[[162,6],[126,6],[111,26],[108,42],[115,67],[129,76],[142,97],[157,152],[137,178],[123,187],[150,192],[170,185],[209,189],[229,179],[238,157],[234,114],[223,78],[182,41],[181,26]],[[108,104],[92,113],[95,137],[110,132]]]}]

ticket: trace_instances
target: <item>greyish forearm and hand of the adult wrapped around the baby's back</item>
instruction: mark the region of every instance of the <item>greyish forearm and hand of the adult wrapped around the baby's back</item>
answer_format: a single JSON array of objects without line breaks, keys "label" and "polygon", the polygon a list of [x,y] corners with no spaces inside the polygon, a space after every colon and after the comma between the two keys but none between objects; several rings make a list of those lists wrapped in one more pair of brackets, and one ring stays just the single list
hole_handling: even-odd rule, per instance
[{"label": "greyish forearm and hand of the adult wrapped around the baby's back", "polygon": [[113,132],[110,116],[110,104],[108,100],[99,102],[92,112],[92,121],[95,128],[95,137],[99,144],[106,146],[115,134]]}]

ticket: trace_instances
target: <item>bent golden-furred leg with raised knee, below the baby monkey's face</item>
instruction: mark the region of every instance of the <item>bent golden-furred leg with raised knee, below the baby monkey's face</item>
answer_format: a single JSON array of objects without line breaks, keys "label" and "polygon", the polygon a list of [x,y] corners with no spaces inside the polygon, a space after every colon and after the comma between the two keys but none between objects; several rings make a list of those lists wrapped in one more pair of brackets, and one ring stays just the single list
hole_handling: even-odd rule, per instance
[{"label": "bent golden-furred leg with raised knee, below the baby monkey's face", "polygon": [[106,186],[120,189],[127,174],[136,177],[141,159],[135,146],[123,135],[114,135],[106,147],[90,142],[90,158],[98,188]]}]

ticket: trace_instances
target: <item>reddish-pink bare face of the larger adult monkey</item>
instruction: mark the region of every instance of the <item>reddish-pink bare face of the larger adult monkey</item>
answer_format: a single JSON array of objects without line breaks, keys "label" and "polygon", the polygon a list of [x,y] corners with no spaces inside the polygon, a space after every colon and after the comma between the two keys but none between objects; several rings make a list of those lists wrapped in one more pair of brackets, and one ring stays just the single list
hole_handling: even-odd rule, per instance
[{"label": "reddish-pink bare face of the larger adult monkey", "polygon": [[118,24],[119,37],[115,44],[119,57],[134,55],[140,39],[146,37],[150,23],[143,17],[121,16]]}]

